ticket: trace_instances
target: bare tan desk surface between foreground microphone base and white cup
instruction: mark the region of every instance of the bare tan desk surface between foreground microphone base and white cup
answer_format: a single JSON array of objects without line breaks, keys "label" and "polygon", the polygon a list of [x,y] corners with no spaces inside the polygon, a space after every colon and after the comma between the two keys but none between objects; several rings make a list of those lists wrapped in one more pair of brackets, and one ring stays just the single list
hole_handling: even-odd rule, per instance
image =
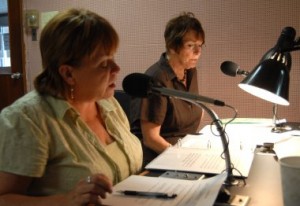
[{"label": "bare tan desk surface between foreground microphone base and white cup", "polygon": [[280,165],[271,155],[255,154],[245,187],[232,186],[232,195],[250,197],[249,206],[283,206]]}]

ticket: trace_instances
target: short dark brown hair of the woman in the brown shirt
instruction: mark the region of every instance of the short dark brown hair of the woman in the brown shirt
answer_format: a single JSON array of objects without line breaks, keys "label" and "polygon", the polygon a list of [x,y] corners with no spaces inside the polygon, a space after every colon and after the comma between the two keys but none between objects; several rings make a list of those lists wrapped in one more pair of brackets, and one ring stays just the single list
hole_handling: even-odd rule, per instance
[{"label": "short dark brown hair of the woman in the brown shirt", "polygon": [[192,12],[183,12],[171,19],[165,29],[164,37],[166,49],[174,49],[176,52],[183,46],[183,36],[188,31],[195,31],[200,39],[205,41],[205,33],[200,21]]}]

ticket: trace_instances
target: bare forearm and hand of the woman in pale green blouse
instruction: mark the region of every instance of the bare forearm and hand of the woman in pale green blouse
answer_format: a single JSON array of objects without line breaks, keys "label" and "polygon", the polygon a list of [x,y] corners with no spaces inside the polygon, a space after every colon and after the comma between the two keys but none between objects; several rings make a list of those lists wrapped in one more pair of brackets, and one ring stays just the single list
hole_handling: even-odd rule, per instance
[{"label": "bare forearm and hand of the woman in pale green blouse", "polygon": [[74,189],[67,194],[27,196],[25,194],[32,179],[31,177],[0,172],[0,206],[97,206],[101,205],[101,198],[105,198],[107,192],[112,192],[112,183],[108,177],[103,174],[94,174],[80,180]]}]

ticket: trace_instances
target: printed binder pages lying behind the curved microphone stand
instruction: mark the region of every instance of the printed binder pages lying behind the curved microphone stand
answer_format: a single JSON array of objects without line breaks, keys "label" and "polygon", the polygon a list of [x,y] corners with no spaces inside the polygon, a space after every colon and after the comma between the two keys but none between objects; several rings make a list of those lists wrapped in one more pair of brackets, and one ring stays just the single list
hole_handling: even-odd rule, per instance
[{"label": "printed binder pages lying behind the curved microphone stand", "polygon": [[[220,174],[226,170],[225,160],[221,157],[223,150],[200,148],[170,147],[156,157],[148,165],[148,170],[175,170]],[[231,152],[231,162],[243,177],[248,177],[253,161],[253,152]],[[233,171],[235,176],[241,176]]]}]

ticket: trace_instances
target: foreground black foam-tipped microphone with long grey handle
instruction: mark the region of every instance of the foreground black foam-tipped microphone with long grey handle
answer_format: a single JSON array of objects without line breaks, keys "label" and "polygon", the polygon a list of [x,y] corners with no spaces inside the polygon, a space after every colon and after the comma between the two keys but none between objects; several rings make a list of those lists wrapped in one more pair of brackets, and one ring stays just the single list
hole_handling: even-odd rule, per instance
[{"label": "foreground black foam-tipped microphone with long grey handle", "polygon": [[217,106],[225,106],[225,103],[220,100],[159,86],[150,76],[141,73],[127,75],[122,82],[122,86],[123,90],[133,97],[144,98],[151,94],[155,94],[177,97],[179,99],[192,100],[195,102],[205,102]]}]

